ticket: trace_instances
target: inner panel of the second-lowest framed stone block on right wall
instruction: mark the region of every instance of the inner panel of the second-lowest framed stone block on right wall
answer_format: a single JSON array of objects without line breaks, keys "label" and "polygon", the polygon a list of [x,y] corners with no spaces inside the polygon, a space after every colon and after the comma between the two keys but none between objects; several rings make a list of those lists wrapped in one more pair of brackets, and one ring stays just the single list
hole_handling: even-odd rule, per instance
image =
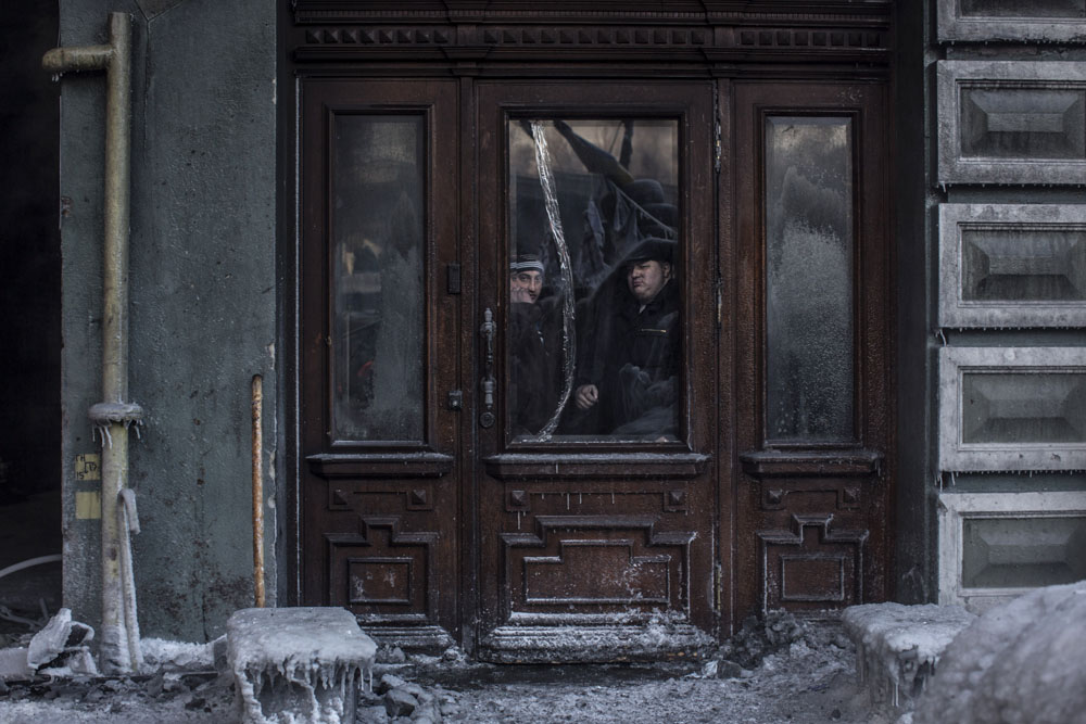
[{"label": "inner panel of the second-lowest framed stone block on right wall", "polygon": [[965,372],[962,443],[1086,442],[1086,373]]}]

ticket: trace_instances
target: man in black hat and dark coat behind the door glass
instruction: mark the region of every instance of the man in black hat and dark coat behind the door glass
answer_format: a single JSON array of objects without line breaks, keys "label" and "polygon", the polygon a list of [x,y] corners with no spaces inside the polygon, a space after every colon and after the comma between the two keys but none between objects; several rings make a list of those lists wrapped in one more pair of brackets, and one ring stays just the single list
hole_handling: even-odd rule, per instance
[{"label": "man in black hat and dark coat behind the door glass", "polygon": [[593,296],[573,391],[580,431],[639,440],[677,434],[674,247],[666,239],[641,241]]}]

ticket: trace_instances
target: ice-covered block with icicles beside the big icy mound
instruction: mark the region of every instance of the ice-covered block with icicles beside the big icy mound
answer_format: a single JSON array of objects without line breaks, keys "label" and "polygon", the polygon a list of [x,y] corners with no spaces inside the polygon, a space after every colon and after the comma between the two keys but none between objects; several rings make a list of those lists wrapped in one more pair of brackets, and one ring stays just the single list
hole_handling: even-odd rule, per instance
[{"label": "ice-covered block with icicles beside the big icy mound", "polygon": [[842,614],[856,644],[856,675],[874,702],[919,696],[947,645],[976,617],[960,606],[866,604]]}]

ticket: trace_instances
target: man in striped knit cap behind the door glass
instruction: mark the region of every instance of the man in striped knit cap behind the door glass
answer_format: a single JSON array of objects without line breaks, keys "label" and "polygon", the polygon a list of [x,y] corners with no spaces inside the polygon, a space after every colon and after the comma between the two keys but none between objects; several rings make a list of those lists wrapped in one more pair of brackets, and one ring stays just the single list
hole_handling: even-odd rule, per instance
[{"label": "man in striped knit cap behind the door glass", "polygon": [[543,262],[518,254],[509,263],[509,409],[515,435],[538,434],[561,394],[561,320],[555,297],[540,301]]}]

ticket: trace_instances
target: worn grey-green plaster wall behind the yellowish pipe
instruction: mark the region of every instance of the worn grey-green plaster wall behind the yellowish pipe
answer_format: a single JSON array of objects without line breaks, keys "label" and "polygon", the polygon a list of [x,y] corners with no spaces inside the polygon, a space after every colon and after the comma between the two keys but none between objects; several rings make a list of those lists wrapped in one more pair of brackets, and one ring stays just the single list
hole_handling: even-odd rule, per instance
[{"label": "worn grey-green plaster wall behind the yellowish pipe", "polygon": [[[130,398],[144,636],[203,640],[251,606],[250,390],[264,376],[265,470],[276,419],[275,3],[62,0],[61,43],[105,42],[111,11],[134,17]],[[104,82],[63,79],[61,195],[64,599],[94,623],[99,521],[78,520],[76,455],[101,395]],[[274,495],[267,473],[267,497]],[[276,588],[266,507],[267,589]]]}]

